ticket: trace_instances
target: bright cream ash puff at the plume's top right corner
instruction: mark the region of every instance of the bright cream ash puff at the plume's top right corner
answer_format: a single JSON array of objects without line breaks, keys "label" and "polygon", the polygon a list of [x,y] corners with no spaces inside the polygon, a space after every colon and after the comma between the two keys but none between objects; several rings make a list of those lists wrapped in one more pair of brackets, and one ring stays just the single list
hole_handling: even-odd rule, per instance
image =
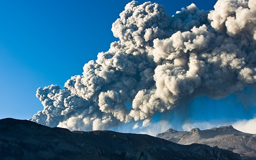
[{"label": "bright cream ash puff at the plume's top right corner", "polygon": [[218,0],[209,14],[211,25],[216,31],[229,36],[253,36],[256,38],[255,0]]}]

